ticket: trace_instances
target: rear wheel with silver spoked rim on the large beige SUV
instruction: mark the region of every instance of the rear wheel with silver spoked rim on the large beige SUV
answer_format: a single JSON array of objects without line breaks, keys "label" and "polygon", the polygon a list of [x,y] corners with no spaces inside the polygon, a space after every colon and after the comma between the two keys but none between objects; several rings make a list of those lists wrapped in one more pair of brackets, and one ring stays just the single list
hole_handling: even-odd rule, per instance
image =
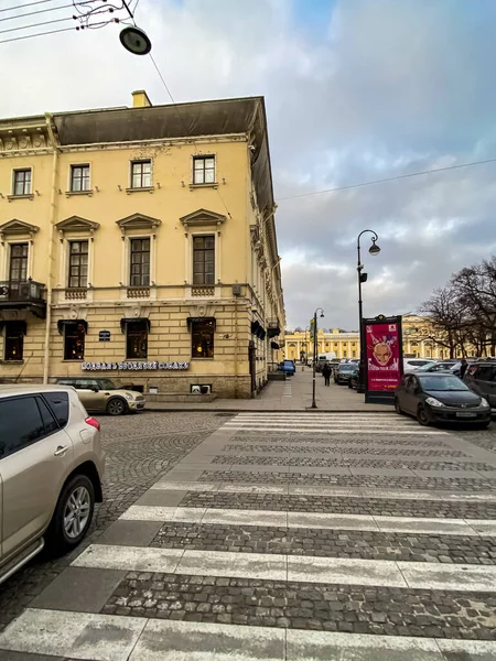
[{"label": "rear wheel with silver spoked rim on the large beige SUV", "polygon": [[79,544],[95,509],[95,489],[86,475],[75,475],[62,490],[47,532],[48,548],[62,554]]}]

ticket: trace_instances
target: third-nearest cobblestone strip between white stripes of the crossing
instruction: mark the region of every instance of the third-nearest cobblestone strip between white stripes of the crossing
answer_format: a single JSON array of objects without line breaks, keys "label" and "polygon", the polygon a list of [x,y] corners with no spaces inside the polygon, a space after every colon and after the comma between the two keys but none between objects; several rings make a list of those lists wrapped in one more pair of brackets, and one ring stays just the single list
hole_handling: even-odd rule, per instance
[{"label": "third-nearest cobblestone strip between white stripes of the crossing", "polygon": [[254,509],[268,511],[333,512],[390,517],[433,517],[442,519],[496,519],[496,502],[448,502],[442,500],[391,500],[389,498],[345,498],[285,496],[277,494],[220,494],[188,491],[180,507]]}]

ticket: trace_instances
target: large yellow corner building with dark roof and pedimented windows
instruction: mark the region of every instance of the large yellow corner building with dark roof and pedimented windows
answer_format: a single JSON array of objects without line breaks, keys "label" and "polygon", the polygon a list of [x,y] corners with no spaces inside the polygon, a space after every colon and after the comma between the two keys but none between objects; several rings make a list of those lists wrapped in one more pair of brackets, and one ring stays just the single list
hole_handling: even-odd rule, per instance
[{"label": "large yellow corner building with dark roof and pedimented windows", "polygon": [[261,97],[0,120],[0,382],[250,397],[283,355],[274,210]]}]

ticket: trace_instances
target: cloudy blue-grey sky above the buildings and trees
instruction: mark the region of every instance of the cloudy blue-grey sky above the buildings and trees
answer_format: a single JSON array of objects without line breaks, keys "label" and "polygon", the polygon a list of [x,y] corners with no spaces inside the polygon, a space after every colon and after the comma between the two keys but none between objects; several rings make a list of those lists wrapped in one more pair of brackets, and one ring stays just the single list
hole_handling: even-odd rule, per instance
[{"label": "cloudy blue-grey sky above the buildings and trees", "polygon": [[[363,238],[367,316],[414,311],[496,252],[496,163],[288,199],[496,158],[494,0],[139,0],[136,19],[176,101],[266,97],[288,327],[316,306],[357,327],[363,229],[381,248]],[[118,30],[0,44],[0,116],[129,105],[140,88],[169,102]]]}]

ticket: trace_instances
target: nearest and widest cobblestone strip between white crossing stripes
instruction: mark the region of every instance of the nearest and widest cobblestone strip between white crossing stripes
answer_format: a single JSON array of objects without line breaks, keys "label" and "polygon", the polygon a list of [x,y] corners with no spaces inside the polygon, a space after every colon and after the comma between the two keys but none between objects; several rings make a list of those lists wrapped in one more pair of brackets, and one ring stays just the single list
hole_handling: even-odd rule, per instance
[{"label": "nearest and widest cobblestone strip between white crossing stripes", "polygon": [[496,596],[131,572],[103,613],[186,621],[494,640]]}]

